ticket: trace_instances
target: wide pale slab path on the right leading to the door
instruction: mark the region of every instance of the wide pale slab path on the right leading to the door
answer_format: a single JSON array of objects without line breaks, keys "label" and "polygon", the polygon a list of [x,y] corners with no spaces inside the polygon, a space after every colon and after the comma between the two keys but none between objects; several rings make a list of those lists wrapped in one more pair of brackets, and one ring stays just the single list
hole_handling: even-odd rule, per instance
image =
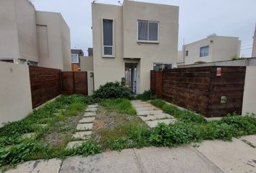
[{"label": "wide pale slab path on the right leading to the door", "polygon": [[135,107],[140,119],[145,121],[150,128],[155,128],[158,123],[165,123],[168,125],[176,122],[176,119],[173,116],[163,113],[162,110],[158,109],[158,107],[154,107],[149,102],[133,100],[132,106]]}]

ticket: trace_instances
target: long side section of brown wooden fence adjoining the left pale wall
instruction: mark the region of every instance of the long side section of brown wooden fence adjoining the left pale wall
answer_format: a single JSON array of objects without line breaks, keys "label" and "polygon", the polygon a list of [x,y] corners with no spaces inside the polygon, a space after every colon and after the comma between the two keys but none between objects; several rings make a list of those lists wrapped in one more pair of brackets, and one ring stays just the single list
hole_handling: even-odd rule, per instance
[{"label": "long side section of brown wooden fence adjoining the left pale wall", "polygon": [[61,94],[61,70],[29,66],[33,109]]}]

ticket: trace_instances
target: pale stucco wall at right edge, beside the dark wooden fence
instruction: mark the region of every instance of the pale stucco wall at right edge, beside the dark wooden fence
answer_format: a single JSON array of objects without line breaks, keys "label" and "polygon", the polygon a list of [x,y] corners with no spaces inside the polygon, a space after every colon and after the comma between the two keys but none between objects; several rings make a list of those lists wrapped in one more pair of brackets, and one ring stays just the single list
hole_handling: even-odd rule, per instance
[{"label": "pale stucco wall at right edge, beside the dark wooden fence", "polygon": [[256,115],[256,66],[247,66],[245,84],[244,84],[244,99],[242,115],[246,113],[254,113]]}]

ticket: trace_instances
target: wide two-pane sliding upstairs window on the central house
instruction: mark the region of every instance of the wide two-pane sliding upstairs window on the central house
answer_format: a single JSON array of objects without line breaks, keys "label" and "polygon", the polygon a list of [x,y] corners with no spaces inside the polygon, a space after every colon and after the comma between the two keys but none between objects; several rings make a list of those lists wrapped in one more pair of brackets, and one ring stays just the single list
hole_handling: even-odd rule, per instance
[{"label": "wide two-pane sliding upstairs window on the central house", "polygon": [[159,22],[138,20],[137,39],[139,41],[158,42]]}]

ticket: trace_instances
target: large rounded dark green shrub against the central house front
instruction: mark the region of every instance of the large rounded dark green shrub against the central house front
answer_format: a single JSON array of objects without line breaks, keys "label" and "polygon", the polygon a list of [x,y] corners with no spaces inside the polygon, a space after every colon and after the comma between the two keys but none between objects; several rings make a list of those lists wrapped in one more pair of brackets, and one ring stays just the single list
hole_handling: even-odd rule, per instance
[{"label": "large rounded dark green shrub against the central house front", "polygon": [[108,82],[93,94],[95,99],[130,99],[132,94],[126,86],[122,86],[119,82]]}]

